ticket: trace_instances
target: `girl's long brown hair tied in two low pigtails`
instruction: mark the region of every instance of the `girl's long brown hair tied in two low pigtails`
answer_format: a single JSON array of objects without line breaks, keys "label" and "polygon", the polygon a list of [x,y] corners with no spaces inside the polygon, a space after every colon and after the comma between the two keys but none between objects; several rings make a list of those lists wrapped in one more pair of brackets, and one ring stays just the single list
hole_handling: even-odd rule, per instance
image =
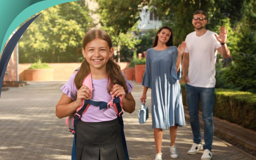
[{"label": "girl's long brown hair tied in two low pigtails", "polygon": [[[108,47],[112,48],[112,42],[111,38],[108,35],[108,33],[101,29],[91,29],[88,32],[85,33],[83,38],[83,48],[85,49],[85,46],[91,42],[92,40],[100,38],[108,43]],[[81,67],[79,68],[78,72],[75,76],[75,84],[76,88],[79,89],[83,85],[84,78],[91,72],[90,65],[86,61],[86,58],[81,64]],[[124,91],[127,93],[127,85],[124,79],[124,76],[122,75],[120,66],[114,62],[111,58],[108,59],[107,66],[106,66],[106,72],[108,74],[108,78],[110,78],[110,84],[108,83],[108,93],[110,94],[110,90],[112,89],[114,84],[119,84],[122,87],[124,87]]]}]

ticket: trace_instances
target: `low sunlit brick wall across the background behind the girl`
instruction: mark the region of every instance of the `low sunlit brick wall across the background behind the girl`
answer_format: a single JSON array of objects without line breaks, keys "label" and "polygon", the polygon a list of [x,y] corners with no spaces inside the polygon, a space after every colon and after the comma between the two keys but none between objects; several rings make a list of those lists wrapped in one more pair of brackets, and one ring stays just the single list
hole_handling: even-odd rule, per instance
[{"label": "low sunlit brick wall across the background behind the girl", "polygon": [[[74,70],[80,67],[81,63],[47,63],[54,69],[53,81],[67,81],[73,74]],[[124,68],[129,66],[129,62],[118,63],[123,71]],[[30,63],[19,64],[20,81],[25,80],[24,70],[30,67]]]}]

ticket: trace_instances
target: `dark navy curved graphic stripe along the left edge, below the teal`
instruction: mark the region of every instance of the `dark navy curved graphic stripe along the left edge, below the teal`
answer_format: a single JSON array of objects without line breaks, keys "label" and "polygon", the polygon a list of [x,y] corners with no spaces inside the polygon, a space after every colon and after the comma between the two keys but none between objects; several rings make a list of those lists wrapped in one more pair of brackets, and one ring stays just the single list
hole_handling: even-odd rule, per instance
[{"label": "dark navy curved graphic stripe along the left edge, below the teal", "polygon": [[[40,13],[41,14],[41,13]],[[1,97],[1,91],[2,91],[2,86],[3,86],[3,81],[4,81],[4,74],[8,65],[8,62],[10,60],[10,57],[12,55],[12,52],[20,40],[20,37],[23,35],[25,30],[28,28],[28,26],[40,15],[36,15],[35,17],[31,18],[28,20],[24,25],[22,25],[16,33],[12,36],[10,41],[6,44],[6,47],[4,48],[4,52],[2,54],[2,57],[0,59],[0,97]]]}]

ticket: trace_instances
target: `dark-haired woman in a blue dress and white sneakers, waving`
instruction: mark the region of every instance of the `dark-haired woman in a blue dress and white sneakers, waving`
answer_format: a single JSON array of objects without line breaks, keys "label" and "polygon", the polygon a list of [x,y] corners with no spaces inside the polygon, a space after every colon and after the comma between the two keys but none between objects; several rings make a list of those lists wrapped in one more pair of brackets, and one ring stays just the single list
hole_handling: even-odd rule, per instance
[{"label": "dark-haired woman in a blue dress and white sneakers, waving", "polygon": [[146,101],[147,90],[151,88],[152,128],[154,128],[156,144],[155,160],[162,159],[163,129],[170,130],[170,156],[178,157],[175,147],[177,127],[186,125],[179,83],[181,57],[185,48],[184,41],[178,48],[173,46],[171,28],[162,27],[157,32],[153,48],[147,50],[146,70],[142,80],[144,90],[140,101]]}]

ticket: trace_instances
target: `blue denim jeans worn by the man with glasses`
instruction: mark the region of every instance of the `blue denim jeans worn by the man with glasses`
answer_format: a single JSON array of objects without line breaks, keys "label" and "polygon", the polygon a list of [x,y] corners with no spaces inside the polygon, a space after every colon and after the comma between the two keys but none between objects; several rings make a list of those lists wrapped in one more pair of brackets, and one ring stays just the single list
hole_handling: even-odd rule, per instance
[{"label": "blue denim jeans worn by the man with glasses", "polygon": [[204,149],[212,150],[213,139],[213,105],[215,88],[194,87],[186,84],[187,106],[194,143],[201,143],[201,131],[198,118],[199,98],[201,99],[204,120]]}]

